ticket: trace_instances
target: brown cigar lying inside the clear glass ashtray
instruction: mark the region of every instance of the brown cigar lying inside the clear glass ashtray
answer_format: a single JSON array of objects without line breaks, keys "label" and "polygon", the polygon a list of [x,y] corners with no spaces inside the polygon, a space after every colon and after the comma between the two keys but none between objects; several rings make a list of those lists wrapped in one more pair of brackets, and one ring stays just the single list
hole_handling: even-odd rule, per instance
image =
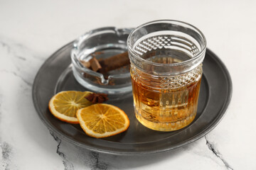
[{"label": "brown cigar lying inside the clear glass ashtray", "polygon": [[96,57],[93,56],[89,62],[85,62],[83,60],[81,60],[80,62],[84,67],[92,69],[95,72],[100,72],[102,74],[107,74],[107,72],[110,72],[114,69],[119,69],[130,64],[128,52],[123,52],[121,54],[108,57],[107,59],[99,60],[97,60]]}]

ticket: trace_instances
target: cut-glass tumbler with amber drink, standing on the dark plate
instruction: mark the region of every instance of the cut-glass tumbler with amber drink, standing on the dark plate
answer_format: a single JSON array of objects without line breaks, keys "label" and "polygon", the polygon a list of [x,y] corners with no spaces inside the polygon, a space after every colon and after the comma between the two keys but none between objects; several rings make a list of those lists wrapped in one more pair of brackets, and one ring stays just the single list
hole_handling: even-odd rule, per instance
[{"label": "cut-glass tumbler with amber drink, standing on the dark plate", "polygon": [[152,21],[127,39],[137,120],[152,130],[173,131],[196,117],[206,38],[181,21]]}]

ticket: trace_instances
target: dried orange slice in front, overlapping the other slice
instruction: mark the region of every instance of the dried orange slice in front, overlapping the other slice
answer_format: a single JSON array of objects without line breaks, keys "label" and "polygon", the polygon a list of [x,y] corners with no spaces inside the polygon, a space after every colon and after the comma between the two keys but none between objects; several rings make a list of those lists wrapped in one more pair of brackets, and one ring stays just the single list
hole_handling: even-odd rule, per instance
[{"label": "dried orange slice in front, overlapping the other slice", "polygon": [[129,118],[120,108],[109,104],[95,104],[77,112],[80,126],[91,137],[117,135],[129,127]]}]

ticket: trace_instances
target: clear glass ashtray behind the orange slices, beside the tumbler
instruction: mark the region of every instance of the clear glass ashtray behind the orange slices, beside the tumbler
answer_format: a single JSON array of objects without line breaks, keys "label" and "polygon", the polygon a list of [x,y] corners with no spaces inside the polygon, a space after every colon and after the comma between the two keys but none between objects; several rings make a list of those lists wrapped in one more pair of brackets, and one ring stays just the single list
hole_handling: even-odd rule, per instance
[{"label": "clear glass ashtray behind the orange slices, beside the tumbler", "polygon": [[127,37],[132,30],[132,28],[97,28],[75,40],[71,50],[71,60],[73,74],[79,84],[91,91],[110,95],[128,94],[132,91],[129,65],[102,74],[82,64],[89,62],[92,57],[104,60],[127,52]]}]

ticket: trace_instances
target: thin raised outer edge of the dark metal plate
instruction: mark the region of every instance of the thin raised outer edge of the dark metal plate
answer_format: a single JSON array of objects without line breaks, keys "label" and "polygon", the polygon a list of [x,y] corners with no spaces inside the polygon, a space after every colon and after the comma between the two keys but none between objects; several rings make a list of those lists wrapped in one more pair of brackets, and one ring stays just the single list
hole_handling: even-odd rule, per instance
[{"label": "thin raised outer edge of the dark metal plate", "polygon": [[[208,55],[211,55],[213,60],[215,60],[215,62],[217,62],[219,64],[219,66],[222,69],[222,72],[225,73],[225,79],[227,80],[227,85],[228,85],[228,93],[227,93],[227,99],[225,100],[225,102],[223,103],[223,107],[220,109],[220,111],[218,112],[218,116],[217,118],[215,118],[212,122],[210,122],[210,124],[208,124],[208,127],[203,129],[201,132],[198,132],[198,134],[193,135],[193,137],[188,138],[187,140],[183,140],[182,142],[178,142],[177,144],[171,145],[171,147],[166,147],[164,149],[154,149],[154,150],[149,150],[149,151],[141,151],[141,152],[137,152],[137,151],[131,151],[131,152],[124,152],[124,151],[112,151],[112,150],[107,150],[107,149],[100,149],[100,148],[95,148],[95,147],[90,147],[88,145],[82,145],[80,142],[74,141],[72,139],[70,139],[70,137],[67,137],[65,135],[63,135],[61,132],[59,132],[58,130],[56,130],[54,127],[52,127],[52,125],[50,125],[50,123],[48,123],[47,120],[45,120],[45,118],[43,118],[43,114],[41,114],[41,110],[39,109],[36,103],[37,99],[36,99],[36,81],[38,80],[38,77],[40,75],[40,71],[43,69],[43,67],[45,67],[47,65],[47,63],[50,60],[53,60],[54,57],[59,53],[59,52],[63,52],[67,47],[70,47],[70,45],[73,45],[73,41],[69,42],[68,44],[64,45],[63,47],[60,47],[57,51],[55,51],[52,55],[50,55],[50,57],[48,57],[48,59],[43,62],[43,64],[41,65],[41,67],[38,69],[38,72],[36,74],[36,77],[34,78],[33,81],[33,87],[32,87],[32,98],[33,98],[33,106],[34,108],[36,108],[36,112],[39,116],[39,118],[41,119],[41,121],[43,122],[44,125],[46,125],[46,128],[48,128],[48,130],[50,130],[51,132],[54,132],[55,135],[57,135],[58,137],[60,137],[60,139],[66,140],[68,142],[70,142],[73,145],[77,145],[78,147],[82,147],[85,149],[88,149],[90,151],[93,152],[100,152],[100,153],[105,153],[105,154],[114,154],[114,155],[143,155],[143,154],[156,154],[156,153],[160,153],[160,152],[166,152],[172,149],[176,149],[178,147],[182,147],[185,145],[188,145],[192,142],[195,142],[196,140],[199,140],[201,137],[205,136],[206,134],[208,134],[208,132],[210,132],[211,130],[213,130],[218,123],[220,123],[220,120],[223,119],[228,106],[230,104],[231,98],[232,98],[232,93],[233,93],[233,84],[232,84],[232,80],[230,77],[230,73],[228,72],[227,67],[225,67],[225,64],[223,63],[223,61],[220,60],[220,58],[215,55],[214,52],[212,52],[211,50],[209,50],[209,48],[207,48],[206,53],[208,53]],[[208,81],[207,81],[208,83]]]}]

